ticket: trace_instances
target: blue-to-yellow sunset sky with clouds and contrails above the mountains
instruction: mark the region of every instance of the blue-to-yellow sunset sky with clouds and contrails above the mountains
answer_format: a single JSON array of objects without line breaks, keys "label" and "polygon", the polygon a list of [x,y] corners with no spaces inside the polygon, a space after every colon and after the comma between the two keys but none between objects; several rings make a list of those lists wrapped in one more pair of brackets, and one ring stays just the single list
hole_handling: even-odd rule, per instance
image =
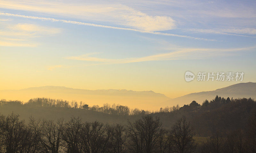
[{"label": "blue-to-yellow sunset sky with clouds and contrails above the mountains", "polygon": [[[256,1],[0,0],[0,90],[152,90],[256,82]],[[244,72],[190,81],[185,72]]]}]

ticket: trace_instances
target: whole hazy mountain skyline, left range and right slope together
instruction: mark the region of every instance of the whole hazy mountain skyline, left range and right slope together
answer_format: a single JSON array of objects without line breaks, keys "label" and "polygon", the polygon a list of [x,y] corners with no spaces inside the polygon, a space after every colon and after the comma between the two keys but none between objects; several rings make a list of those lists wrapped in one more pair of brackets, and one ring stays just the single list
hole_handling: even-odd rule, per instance
[{"label": "whole hazy mountain skyline, left range and right slope together", "polygon": [[0,98],[7,100],[21,100],[27,102],[31,98],[49,97],[63,100],[83,101],[88,105],[102,105],[103,103],[116,103],[127,105],[130,108],[140,108],[145,110],[156,110],[160,107],[173,106],[191,103],[195,100],[203,103],[205,99],[212,100],[216,95],[233,98],[256,98],[256,83],[238,83],[214,91],[204,91],[191,93],[177,98],[169,98],[154,91],[132,91],[126,89],[101,89],[86,90],[59,86],[33,87],[20,90],[0,90]]}]

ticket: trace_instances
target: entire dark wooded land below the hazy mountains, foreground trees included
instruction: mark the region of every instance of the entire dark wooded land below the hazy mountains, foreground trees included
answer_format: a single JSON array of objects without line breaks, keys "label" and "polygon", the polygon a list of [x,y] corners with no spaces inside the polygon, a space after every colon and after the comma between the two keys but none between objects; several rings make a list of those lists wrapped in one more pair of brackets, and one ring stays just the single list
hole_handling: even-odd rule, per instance
[{"label": "entire dark wooded land below the hazy mountains, foreground trees included", "polygon": [[251,98],[158,111],[35,98],[1,100],[0,110],[1,152],[256,152]]}]

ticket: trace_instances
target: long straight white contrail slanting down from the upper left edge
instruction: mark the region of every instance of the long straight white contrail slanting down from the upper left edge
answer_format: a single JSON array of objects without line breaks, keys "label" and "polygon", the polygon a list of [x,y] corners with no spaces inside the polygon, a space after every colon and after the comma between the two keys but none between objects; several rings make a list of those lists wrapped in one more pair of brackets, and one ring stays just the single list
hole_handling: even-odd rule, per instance
[{"label": "long straight white contrail slanting down from the upper left edge", "polygon": [[191,38],[191,39],[204,40],[204,41],[217,41],[217,40],[214,40],[214,39],[197,38],[197,37],[191,37],[191,36],[187,36],[187,35],[179,35],[179,34],[169,34],[169,33],[153,32],[153,31],[145,31],[145,30],[138,30],[138,29],[132,29],[132,28],[104,26],[104,25],[98,25],[98,24],[92,24],[92,23],[84,23],[84,22],[78,22],[78,21],[70,21],[70,20],[62,20],[62,19],[26,16],[26,15],[3,13],[3,12],[0,12],[0,15],[20,17],[20,18],[28,18],[28,19],[48,20],[48,21],[71,23],[71,24],[85,25],[85,26],[92,26],[92,27],[103,27],[103,28],[110,28],[110,29],[130,30],[130,31],[136,31],[136,32],[140,32],[140,33],[166,35],[166,36],[175,36],[175,37]]}]

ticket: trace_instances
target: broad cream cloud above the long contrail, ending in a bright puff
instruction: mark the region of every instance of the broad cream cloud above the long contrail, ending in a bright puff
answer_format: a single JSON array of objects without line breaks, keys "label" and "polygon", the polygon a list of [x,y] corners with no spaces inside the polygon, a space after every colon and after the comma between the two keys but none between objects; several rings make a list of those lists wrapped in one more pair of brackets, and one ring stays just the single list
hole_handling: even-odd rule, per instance
[{"label": "broad cream cloud above the long contrail, ending in a bright puff", "polygon": [[100,20],[146,31],[170,30],[176,27],[169,16],[148,15],[131,7],[116,4],[92,4],[74,1],[72,4],[58,1],[3,1],[0,7],[15,10],[36,11],[57,15],[76,16],[79,19]]}]

